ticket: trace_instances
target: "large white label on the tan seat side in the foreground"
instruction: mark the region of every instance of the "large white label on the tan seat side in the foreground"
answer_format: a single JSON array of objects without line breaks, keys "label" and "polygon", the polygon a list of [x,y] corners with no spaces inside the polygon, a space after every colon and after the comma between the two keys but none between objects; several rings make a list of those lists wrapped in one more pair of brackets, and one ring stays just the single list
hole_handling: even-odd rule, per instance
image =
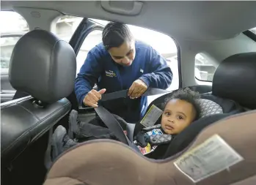
[{"label": "large white label on the tan seat side in the foreground", "polygon": [[243,157],[219,135],[213,135],[200,146],[185,153],[174,165],[194,183],[228,169],[241,162]]}]

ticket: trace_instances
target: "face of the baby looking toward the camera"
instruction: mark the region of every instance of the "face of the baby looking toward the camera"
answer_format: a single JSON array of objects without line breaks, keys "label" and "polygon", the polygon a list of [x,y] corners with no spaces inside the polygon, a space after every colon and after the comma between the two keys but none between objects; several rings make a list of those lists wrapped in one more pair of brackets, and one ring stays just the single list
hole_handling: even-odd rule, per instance
[{"label": "face of the baby looking toward the camera", "polygon": [[171,99],[161,118],[161,128],[168,135],[178,135],[189,126],[196,116],[196,110],[191,103],[181,99]]}]

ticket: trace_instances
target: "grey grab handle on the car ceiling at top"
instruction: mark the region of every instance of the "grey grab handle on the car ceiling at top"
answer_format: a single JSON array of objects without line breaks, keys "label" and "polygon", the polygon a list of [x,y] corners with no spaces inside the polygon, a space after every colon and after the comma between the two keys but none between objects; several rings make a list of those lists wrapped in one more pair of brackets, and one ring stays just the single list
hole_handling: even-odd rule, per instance
[{"label": "grey grab handle on the car ceiling at top", "polygon": [[116,13],[120,15],[139,15],[142,11],[143,3],[139,1],[133,1],[134,7],[132,10],[125,10],[117,7],[111,7],[110,1],[101,1],[101,7],[107,12]]}]

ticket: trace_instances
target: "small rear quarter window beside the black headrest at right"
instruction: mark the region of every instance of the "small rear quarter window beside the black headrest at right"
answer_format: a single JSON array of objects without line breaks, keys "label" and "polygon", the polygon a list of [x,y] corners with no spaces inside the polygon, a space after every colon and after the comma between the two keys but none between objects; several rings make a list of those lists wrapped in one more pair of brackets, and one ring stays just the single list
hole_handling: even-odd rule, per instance
[{"label": "small rear quarter window beside the black headrest at right", "polygon": [[214,60],[205,53],[198,53],[195,56],[194,75],[197,80],[213,81],[213,75],[216,70]]}]

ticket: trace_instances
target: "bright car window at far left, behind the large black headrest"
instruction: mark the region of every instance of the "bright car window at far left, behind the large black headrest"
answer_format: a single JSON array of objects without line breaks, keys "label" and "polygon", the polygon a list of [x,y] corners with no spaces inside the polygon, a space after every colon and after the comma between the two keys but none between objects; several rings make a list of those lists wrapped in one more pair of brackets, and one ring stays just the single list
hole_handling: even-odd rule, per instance
[{"label": "bright car window at far left, behind the large black headrest", "polygon": [[23,34],[29,31],[26,20],[17,12],[1,11],[1,72],[8,71],[12,50]]}]

